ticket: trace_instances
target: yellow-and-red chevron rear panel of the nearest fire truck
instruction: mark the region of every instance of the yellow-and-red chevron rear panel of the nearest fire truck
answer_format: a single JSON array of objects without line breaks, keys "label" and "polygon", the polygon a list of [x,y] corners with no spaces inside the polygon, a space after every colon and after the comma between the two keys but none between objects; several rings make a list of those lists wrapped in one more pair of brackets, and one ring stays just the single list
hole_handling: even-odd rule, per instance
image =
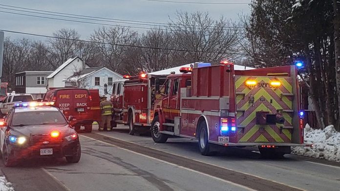
[{"label": "yellow-and-red chevron rear panel of the nearest fire truck", "polygon": [[[272,82],[280,85],[273,86]],[[235,77],[238,142],[292,142],[290,128],[293,126],[292,83],[290,77]],[[276,114],[278,111],[283,115],[285,122],[276,125],[256,125],[258,111],[267,111],[270,114]]]}]

